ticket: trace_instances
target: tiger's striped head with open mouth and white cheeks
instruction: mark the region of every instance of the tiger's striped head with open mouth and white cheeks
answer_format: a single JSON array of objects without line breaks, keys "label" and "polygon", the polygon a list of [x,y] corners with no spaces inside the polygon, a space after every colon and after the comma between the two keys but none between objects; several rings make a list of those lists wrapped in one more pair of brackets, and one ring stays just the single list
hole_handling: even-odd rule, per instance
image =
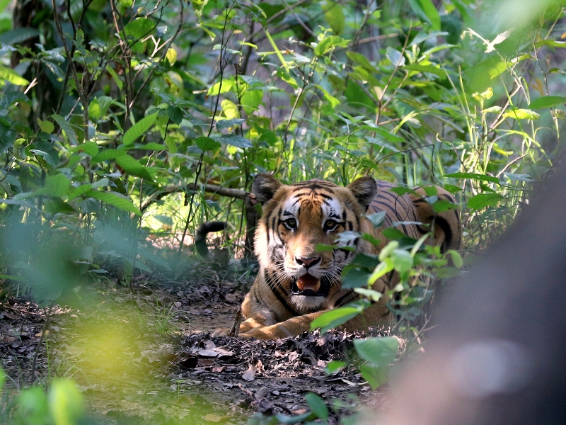
[{"label": "tiger's striped head with open mouth and white cheeks", "polygon": [[255,232],[255,255],[269,285],[280,285],[301,310],[320,310],[342,268],[364,250],[362,239],[345,243],[354,251],[317,251],[335,245],[342,232],[369,232],[363,217],[377,193],[376,181],[362,177],[347,187],[323,180],[284,185],[258,174],[252,191],[263,205]]}]

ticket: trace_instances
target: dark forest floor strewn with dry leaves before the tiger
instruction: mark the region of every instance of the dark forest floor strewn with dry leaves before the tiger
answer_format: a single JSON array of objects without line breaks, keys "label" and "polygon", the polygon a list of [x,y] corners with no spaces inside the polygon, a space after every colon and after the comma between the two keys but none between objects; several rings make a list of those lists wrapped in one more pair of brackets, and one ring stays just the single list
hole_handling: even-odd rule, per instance
[{"label": "dark forest floor strewn with dry leaves before the tiger", "polygon": [[[0,365],[8,388],[73,378],[93,424],[245,424],[258,413],[306,412],[308,392],[322,397],[328,421],[337,424],[362,402],[386,403],[350,358],[352,340],[376,331],[277,341],[212,337],[232,326],[249,288],[250,273],[237,274],[206,268],[183,280],[108,281],[81,289],[82,306],[73,308],[5,298]],[[330,373],[327,363],[338,360],[347,365]]]}]

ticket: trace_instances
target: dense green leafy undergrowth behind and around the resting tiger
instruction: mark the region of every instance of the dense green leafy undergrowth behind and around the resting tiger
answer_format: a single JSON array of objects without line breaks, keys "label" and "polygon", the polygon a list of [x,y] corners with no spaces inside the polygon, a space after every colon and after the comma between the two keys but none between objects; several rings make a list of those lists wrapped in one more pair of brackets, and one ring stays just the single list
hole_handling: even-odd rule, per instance
[{"label": "dense green leafy undergrowth behind and around the resting tiger", "polygon": [[443,186],[482,249],[564,149],[564,6],[0,0],[3,296],[186,270],[204,220],[244,256],[258,172]]}]

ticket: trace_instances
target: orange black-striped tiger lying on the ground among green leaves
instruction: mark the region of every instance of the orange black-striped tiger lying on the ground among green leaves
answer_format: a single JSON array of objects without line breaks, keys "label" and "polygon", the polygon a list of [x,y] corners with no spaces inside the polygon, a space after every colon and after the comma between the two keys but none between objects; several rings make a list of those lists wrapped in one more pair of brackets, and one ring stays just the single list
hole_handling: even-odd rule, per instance
[{"label": "orange black-striped tiger lying on the ground among green leaves", "polygon": [[[286,185],[270,174],[258,174],[252,193],[262,204],[254,246],[260,269],[241,305],[239,335],[258,339],[296,336],[323,312],[357,300],[356,292],[341,288],[342,269],[359,252],[379,254],[389,242],[383,229],[395,222],[414,239],[432,231],[427,243],[440,246],[442,252],[460,249],[461,220],[451,193],[437,187],[439,200],[454,204],[454,209],[437,214],[424,199],[423,188],[397,195],[393,187],[393,183],[369,176],[343,187],[319,179]],[[383,225],[376,228],[366,215],[381,211],[386,215]],[[379,239],[379,245],[359,237],[346,243],[353,249],[344,249],[336,240],[345,231],[369,233]],[[317,251],[317,244],[335,245],[336,249]],[[345,329],[391,324],[386,290],[398,282],[397,273],[376,280],[372,288],[382,297],[350,319]],[[213,333],[226,334],[229,329]]]}]

